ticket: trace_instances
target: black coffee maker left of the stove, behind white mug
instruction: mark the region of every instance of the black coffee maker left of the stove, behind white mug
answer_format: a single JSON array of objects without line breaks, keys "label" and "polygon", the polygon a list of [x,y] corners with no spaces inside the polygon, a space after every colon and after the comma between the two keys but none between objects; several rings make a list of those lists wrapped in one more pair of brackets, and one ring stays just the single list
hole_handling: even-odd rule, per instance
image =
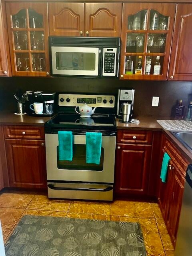
[{"label": "black coffee maker left of the stove, behind white mug", "polygon": [[[30,116],[53,116],[54,115],[54,102],[56,92],[28,92],[29,108],[28,114]],[[33,108],[35,104],[42,103],[42,113],[37,114]],[[32,108],[33,105],[33,108]]]}]

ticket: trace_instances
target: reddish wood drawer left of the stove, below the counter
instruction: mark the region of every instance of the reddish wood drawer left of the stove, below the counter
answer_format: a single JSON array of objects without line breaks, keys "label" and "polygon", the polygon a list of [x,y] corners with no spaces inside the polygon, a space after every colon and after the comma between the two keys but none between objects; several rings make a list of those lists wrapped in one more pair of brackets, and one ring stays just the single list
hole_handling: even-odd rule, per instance
[{"label": "reddish wood drawer left of the stove, below the counter", "polygon": [[4,125],[4,138],[44,140],[44,127]]}]

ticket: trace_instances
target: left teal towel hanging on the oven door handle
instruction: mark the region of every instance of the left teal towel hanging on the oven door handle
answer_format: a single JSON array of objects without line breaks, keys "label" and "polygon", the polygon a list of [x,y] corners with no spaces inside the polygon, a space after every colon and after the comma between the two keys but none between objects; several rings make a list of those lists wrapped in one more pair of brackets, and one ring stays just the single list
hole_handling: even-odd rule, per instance
[{"label": "left teal towel hanging on the oven door handle", "polygon": [[73,160],[73,133],[66,131],[58,132],[59,160]]}]

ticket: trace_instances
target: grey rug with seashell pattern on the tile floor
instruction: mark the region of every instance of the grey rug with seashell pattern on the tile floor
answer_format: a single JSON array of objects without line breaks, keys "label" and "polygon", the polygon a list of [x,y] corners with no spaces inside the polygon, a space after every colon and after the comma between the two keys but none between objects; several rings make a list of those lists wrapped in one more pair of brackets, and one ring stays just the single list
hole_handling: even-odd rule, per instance
[{"label": "grey rug with seashell pattern on the tile floor", "polygon": [[146,256],[136,222],[24,216],[5,244],[6,256]]}]

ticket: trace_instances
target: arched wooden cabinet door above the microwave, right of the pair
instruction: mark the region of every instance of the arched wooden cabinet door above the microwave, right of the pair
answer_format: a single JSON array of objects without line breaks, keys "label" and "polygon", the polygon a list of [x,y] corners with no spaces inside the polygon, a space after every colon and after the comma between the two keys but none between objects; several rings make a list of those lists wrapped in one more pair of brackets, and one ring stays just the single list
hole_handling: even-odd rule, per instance
[{"label": "arched wooden cabinet door above the microwave, right of the pair", "polygon": [[86,36],[120,36],[122,3],[86,3]]}]

